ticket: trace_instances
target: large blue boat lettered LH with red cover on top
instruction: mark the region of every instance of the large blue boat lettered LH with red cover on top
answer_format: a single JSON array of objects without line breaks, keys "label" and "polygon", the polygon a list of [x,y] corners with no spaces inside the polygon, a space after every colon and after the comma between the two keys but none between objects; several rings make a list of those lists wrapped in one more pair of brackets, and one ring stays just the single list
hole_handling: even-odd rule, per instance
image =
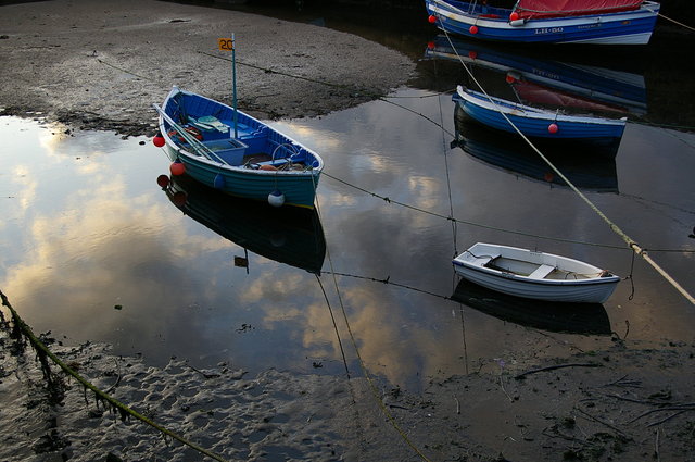
[{"label": "large blue boat lettered LH with red cover on top", "polygon": [[513,9],[482,1],[426,0],[440,29],[519,43],[648,43],[659,3],[642,0],[519,0]]}]

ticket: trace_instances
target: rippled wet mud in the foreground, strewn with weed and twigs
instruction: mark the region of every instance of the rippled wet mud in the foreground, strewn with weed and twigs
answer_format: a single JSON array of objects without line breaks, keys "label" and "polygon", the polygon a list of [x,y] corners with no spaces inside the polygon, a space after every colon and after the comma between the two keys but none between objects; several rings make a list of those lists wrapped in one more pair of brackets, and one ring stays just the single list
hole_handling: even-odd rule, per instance
[{"label": "rippled wet mud in the foreground, strewn with weed and twigs", "polygon": [[[0,332],[0,460],[205,460],[97,400]],[[110,347],[47,339],[121,402],[226,460],[687,461],[695,458],[695,346],[616,339],[561,362],[481,364],[422,394],[378,380],[227,364],[162,369]],[[386,412],[384,412],[386,410]],[[388,414],[387,414],[388,412]],[[419,454],[418,454],[419,451]]]}]

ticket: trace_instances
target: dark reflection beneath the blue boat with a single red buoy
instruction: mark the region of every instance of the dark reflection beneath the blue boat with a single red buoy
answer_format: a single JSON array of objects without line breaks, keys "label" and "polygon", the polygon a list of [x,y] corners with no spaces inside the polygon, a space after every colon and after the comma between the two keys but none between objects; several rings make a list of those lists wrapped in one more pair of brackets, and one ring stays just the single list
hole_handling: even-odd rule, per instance
[{"label": "dark reflection beneath the blue boat with a single red buoy", "polygon": [[[567,184],[516,134],[486,127],[454,108],[455,139],[468,154],[513,174],[567,187]],[[620,139],[533,139],[533,143],[572,184],[594,192],[618,192],[616,153]]]}]

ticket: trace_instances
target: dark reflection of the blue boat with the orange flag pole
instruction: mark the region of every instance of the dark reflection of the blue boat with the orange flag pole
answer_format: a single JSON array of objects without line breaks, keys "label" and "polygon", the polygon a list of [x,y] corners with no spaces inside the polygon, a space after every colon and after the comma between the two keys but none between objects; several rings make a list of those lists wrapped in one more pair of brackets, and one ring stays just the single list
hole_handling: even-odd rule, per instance
[{"label": "dark reflection of the blue boat with the orange flag pole", "polygon": [[320,274],[326,240],[316,210],[231,197],[187,175],[162,175],[157,184],[186,215],[245,250]]}]

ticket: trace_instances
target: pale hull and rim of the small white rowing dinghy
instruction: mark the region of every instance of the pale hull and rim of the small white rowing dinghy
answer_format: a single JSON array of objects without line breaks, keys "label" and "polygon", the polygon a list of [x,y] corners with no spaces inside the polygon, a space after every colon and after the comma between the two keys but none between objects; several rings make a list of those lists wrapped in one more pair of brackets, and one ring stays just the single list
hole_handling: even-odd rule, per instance
[{"label": "pale hull and rim of the small white rowing dinghy", "polygon": [[[581,279],[545,279],[519,275],[509,271],[486,267],[480,258],[500,255],[536,264],[568,267],[574,272],[595,272],[595,277]],[[488,259],[490,261],[491,259]],[[527,249],[478,242],[453,260],[457,274],[471,283],[515,297],[573,303],[604,303],[614,292],[620,278],[599,276],[602,270],[578,260]]]}]

